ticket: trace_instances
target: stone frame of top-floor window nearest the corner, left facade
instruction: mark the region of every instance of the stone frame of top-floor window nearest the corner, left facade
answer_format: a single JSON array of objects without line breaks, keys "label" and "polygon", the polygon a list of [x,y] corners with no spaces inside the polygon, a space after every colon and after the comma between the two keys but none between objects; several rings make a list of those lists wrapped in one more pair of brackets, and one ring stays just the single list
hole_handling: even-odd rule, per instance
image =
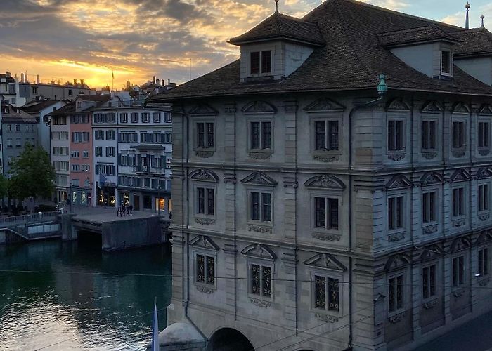
[{"label": "stone frame of top-floor window nearest the corner, left facade", "polygon": [[[338,122],[338,149],[327,149],[327,150],[316,150],[316,122],[318,121],[324,121],[325,122],[325,135],[328,135],[328,131],[326,131],[326,128],[328,128],[328,125],[330,121],[336,121]],[[309,136],[309,153],[315,157],[335,157],[334,161],[336,161],[336,158],[342,155],[343,153],[343,147],[344,147],[344,140],[343,140],[343,131],[344,131],[344,125],[343,125],[343,114],[340,112],[332,112],[330,113],[323,113],[323,114],[316,114],[315,116],[311,116],[309,118],[309,131],[310,131],[310,136]],[[329,143],[328,139],[325,140],[325,144]]]}]

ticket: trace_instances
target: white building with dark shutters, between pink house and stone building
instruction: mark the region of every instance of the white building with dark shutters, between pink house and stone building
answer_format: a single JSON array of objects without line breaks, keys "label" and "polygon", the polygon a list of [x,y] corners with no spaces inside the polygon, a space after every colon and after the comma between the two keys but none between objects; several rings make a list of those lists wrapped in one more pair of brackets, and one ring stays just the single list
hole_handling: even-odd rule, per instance
[{"label": "white building with dark shutters, between pink house and stone building", "polygon": [[122,93],[93,110],[95,205],[172,211],[168,107],[133,105]]}]

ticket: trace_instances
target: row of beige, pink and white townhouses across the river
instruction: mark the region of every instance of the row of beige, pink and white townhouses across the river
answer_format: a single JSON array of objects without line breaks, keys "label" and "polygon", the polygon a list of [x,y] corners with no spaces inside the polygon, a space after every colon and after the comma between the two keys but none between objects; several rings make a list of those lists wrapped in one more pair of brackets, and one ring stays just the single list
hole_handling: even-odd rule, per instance
[{"label": "row of beige, pink and white townhouses across the river", "polygon": [[79,95],[49,117],[57,201],[172,211],[169,108]]}]

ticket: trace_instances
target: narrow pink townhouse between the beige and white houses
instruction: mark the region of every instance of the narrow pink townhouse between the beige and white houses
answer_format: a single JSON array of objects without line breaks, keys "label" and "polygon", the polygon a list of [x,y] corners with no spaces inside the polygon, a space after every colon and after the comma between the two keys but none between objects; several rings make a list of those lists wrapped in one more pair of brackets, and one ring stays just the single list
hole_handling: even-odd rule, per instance
[{"label": "narrow pink townhouse between the beige and white houses", "polygon": [[108,101],[110,95],[78,95],[70,113],[70,201],[75,205],[93,204],[93,107]]}]

